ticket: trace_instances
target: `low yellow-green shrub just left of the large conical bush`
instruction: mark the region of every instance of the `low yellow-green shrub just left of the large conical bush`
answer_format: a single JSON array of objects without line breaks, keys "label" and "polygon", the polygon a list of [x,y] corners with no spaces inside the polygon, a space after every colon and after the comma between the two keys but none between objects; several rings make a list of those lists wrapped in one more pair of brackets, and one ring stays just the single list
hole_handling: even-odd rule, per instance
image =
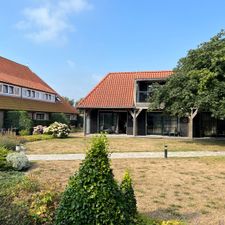
[{"label": "low yellow-green shrub just left of the large conical bush", "polygon": [[29,213],[36,225],[53,224],[59,194],[51,191],[41,191],[32,195]]}]

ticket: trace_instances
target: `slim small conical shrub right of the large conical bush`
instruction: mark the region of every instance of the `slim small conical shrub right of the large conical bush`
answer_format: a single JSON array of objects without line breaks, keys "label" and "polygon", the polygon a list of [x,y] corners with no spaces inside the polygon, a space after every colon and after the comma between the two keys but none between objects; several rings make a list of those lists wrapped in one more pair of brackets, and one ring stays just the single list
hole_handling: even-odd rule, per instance
[{"label": "slim small conical shrub right of the large conical bush", "polygon": [[134,195],[134,189],[132,187],[132,180],[128,172],[125,173],[120,188],[125,198],[125,211],[129,215],[126,217],[128,219],[126,224],[132,224],[136,220],[137,202]]}]

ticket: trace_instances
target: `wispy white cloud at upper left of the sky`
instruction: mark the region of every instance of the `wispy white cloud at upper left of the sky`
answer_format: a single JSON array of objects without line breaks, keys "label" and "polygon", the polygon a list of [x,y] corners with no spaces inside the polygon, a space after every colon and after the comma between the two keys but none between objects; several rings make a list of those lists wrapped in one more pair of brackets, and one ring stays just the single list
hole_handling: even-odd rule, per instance
[{"label": "wispy white cloud at upper left of the sky", "polygon": [[92,8],[88,0],[50,0],[43,6],[26,8],[17,28],[35,42],[65,41],[74,27],[68,17]]}]

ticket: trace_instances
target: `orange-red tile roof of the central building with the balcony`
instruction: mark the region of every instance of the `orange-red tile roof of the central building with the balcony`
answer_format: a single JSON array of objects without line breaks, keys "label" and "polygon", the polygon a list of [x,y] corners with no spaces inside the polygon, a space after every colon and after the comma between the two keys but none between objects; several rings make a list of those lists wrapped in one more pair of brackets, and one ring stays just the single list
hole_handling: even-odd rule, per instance
[{"label": "orange-red tile roof of the central building with the balcony", "polygon": [[133,108],[138,79],[166,79],[172,71],[109,73],[78,105],[78,108]]}]

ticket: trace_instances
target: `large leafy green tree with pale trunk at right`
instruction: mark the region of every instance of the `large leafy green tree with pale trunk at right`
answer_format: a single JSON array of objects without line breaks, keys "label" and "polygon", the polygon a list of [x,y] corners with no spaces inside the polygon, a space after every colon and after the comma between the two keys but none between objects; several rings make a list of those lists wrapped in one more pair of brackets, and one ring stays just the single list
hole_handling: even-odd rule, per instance
[{"label": "large leafy green tree with pale trunk at right", "polygon": [[225,118],[225,32],[190,50],[178,61],[165,85],[154,85],[149,110],[189,118],[189,137],[193,119],[200,111]]}]

